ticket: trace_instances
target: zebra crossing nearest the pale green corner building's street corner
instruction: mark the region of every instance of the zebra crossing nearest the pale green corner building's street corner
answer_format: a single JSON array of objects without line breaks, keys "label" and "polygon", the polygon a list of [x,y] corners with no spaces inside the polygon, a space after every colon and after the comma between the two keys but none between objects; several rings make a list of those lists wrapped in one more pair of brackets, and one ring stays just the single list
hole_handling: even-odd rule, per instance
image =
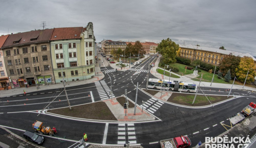
[{"label": "zebra crossing nearest the pale green corner building's street corner", "polygon": [[[100,95],[101,100],[111,98],[111,95],[110,95],[111,90],[109,89],[108,85],[106,84],[106,82],[104,80],[95,82],[95,86]],[[115,97],[115,95],[112,93],[112,98],[114,98],[114,97]]]}]

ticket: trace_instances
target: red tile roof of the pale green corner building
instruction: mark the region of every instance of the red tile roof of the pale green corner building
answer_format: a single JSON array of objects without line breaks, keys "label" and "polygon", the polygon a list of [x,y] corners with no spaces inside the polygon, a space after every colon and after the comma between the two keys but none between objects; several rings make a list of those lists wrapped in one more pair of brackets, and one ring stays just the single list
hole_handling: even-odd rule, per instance
[{"label": "red tile roof of the pale green corner building", "polygon": [[80,34],[83,29],[83,27],[54,28],[50,41],[81,39]]}]

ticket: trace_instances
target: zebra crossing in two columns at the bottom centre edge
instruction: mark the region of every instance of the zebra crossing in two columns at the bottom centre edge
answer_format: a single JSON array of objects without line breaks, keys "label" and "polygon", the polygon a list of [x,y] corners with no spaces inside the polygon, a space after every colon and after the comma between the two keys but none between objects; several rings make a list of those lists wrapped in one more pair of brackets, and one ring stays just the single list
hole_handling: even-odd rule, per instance
[{"label": "zebra crossing in two columns at the bottom centre edge", "polygon": [[[127,135],[127,136],[126,136]],[[128,139],[126,140],[126,137]],[[118,124],[118,141],[117,144],[126,144],[128,141],[130,144],[136,144],[136,135],[134,123],[119,123]]]}]

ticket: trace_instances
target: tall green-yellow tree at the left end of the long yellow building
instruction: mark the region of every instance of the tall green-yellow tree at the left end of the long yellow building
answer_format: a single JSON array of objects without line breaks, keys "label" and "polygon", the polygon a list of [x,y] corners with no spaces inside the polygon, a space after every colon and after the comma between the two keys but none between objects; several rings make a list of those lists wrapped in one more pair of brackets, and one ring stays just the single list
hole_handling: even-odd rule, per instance
[{"label": "tall green-yellow tree at the left end of the long yellow building", "polygon": [[179,45],[169,38],[166,40],[162,40],[156,48],[156,51],[159,51],[159,53],[164,58],[166,64],[176,62],[175,57],[178,50]]}]

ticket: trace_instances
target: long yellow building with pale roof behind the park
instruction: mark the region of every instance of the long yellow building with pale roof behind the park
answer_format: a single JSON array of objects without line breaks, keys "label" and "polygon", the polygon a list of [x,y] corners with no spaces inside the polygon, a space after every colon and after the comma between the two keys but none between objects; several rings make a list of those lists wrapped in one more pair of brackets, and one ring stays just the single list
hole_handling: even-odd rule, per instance
[{"label": "long yellow building with pale roof behind the park", "polygon": [[229,50],[222,50],[222,49],[217,49],[217,48],[210,48],[210,47],[202,47],[202,46],[194,46],[194,45],[179,45],[180,46],[180,57],[183,58],[188,58],[190,60],[201,60],[206,63],[210,64],[217,64],[219,65],[221,61],[223,60],[225,55],[229,55],[232,53],[232,55],[235,56],[247,56],[247,57],[252,57],[254,61],[256,59],[246,53],[238,53],[234,51],[229,51]]}]

